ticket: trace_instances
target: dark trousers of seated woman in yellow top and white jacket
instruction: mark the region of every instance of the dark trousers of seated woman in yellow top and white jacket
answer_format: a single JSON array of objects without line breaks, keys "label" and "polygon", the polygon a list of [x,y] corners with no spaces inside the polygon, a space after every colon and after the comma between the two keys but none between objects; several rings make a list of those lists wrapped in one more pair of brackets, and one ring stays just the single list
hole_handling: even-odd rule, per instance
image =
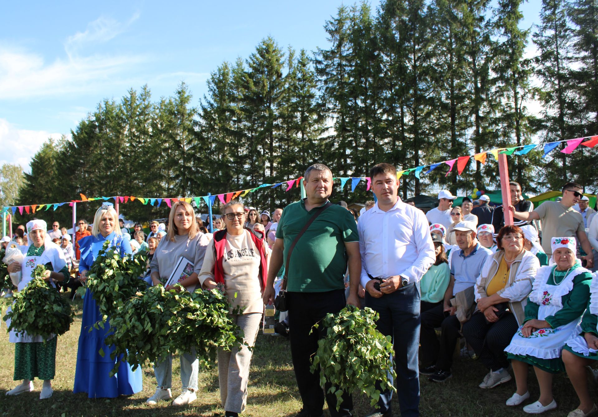
[{"label": "dark trousers of seated woman in yellow top and white jacket", "polygon": [[511,343],[518,327],[517,319],[510,311],[505,312],[497,322],[490,324],[486,322],[484,314],[477,311],[463,324],[463,336],[474,348],[481,363],[489,370],[495,371],[509,366],[505,348]]}]

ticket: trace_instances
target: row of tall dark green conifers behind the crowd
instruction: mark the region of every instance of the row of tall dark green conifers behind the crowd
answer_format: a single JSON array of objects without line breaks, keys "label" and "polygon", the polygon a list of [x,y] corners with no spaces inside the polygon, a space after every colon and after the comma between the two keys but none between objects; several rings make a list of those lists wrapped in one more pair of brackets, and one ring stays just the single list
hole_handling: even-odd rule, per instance
[{"label": "row of tall dark green conifers behind the crowd", "polygon": [[[366,176],[379,162],[413,168],[532,137],[598,133],[598,0],[543,0],[541,24],[530,29],[520,28],[522,2],[343,5],[325,22],[322,48],[297,51],[265,38],[250,56],[218,66],[199,100],[184,83],[157,101],[148,86],[130,89],[120,102],[100,102],[72,139],[43,145],[17,203],[79,193],[203,196],[297,178],[313,162],[335,176]],[[541,114],[530,112],[532,102]],[[596,151],[560,149],[547,159],[535,151],[509,157],[511,178],[524,191],[560,189],[566,180],[596,191]],[[438,186],[491,190],[498,187],[492,159],[472,159],[460,176],[445,177],[448,167],[403,176],[401,195]],[[243,202],[272,209],[297,199],[285,188],[258,190]],[[349,190],[337,185],[334,198],[370,198],[365,185]],[[78,212],[91,220],[96,206],[80,204]],[[121,211],[145,220],[167,208],[133,202]],[[70,223],[71,213],[36,215]]]}]

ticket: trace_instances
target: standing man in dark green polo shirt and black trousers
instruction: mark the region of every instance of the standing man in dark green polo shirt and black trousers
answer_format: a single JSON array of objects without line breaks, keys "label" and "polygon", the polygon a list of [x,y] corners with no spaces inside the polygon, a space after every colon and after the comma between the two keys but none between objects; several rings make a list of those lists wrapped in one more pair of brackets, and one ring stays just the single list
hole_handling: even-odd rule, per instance
[{"label": "standing man in dark green polo shirt and black trousers", "polygon": [[[274,300],[276,272],[286,263],[292,242],[318,208],[328,202],[332,193],[332,172],[325,165],[314,164],[303,175],[303,185],[307,198],[286,206],[280,217],[270,257],[268,282],[264,289],[266,304]],[[350,295],[345,300],[343,278],[347,265]],[[351,416],[351,393],[343,395],[343,402],[337,411],[336,396],[324,394],[319,383],[319,372],[310,372],[310,357],[318,350],[318,339],[322,333],[309,333],[313,325],[328,313],[339,312],[345,304],[359,306],[357,291],[360,273],[361,257],[355,218],[341,206],[329,206],[295,244],[286,274],[291,356],[303,401],[303,409],[297,417],[322,416],[324,398],[332,417]]]}]

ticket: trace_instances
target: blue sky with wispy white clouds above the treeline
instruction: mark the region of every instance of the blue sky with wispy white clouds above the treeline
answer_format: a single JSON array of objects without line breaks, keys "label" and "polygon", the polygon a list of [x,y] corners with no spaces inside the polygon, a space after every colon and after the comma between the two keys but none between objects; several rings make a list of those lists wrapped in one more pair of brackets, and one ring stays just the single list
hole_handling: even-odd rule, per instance
[{"label": "blue sky with wispy white clouds above the treeline", "polygon": [[[266,36],[326,47],[340,1],[4,2],[0,13],[0,165],[29,160],[104,98],[148,84],[152,99],[189,84],[194,105],[222,61],[245,59]],[[352,4],[352,2],[345,2]],[[379,1],[372,1],[373,7]],[[524,4],[524,27],[540,0]]]}]

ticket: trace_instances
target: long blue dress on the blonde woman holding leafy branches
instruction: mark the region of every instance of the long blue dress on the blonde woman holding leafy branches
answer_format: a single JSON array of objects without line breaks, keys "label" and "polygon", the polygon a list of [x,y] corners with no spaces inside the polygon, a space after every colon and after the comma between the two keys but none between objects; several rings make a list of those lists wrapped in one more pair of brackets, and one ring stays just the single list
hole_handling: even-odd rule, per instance
[{"label": "long blue dress on the blonde woman holding leafy branches", "polygon": [[[121,256],[132,254],[129,239],[122,235],[112,232],[106,238],[102,235],[86,236],[79,241],[81,248],[79,270],[90,269],[105,241],[110,241],[110,246],[120,246]],[[73,392],[87,392],[89,398],[115,398],[118,395],[131,395],[141,391],[143,389],[141,367],[133,372],[129,364],[124,362],[118,367],[116,375],[109,376],[114,366],[114,361],[110,359],[114,347],[106,346],[104,343],[106,334],[110,331],[109,324],[106,322],[104,328],[92,328],[89,331],[90,326],[101,319],[102,315],[88,288],[83,302],[83,323],[79,336]],[[99,354],[100,349],[105,353],[103,357]]]}]

